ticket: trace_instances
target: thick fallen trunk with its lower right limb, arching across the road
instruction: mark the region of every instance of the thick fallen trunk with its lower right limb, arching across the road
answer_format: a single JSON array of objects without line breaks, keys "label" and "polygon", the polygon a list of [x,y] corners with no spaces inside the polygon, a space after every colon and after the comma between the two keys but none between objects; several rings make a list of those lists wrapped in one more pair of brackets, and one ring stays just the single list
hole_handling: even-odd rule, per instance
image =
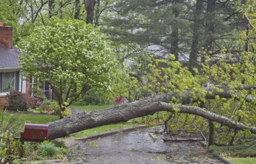
[{"label": "thick fallen trunk with its lower right limb, arching across the road", "polygon": [[54,121],[48,124],[48,138],[49,140],[52,140],[93,127],[118,122],[126,122],[132,118],[153,115],[155,112],[159,111],[188,113],[201,116],[206,119],[219,122],[230,128],[243,131],[249,130],[250,132],[256,134],[256,127],[246,126],[243,123],[233,121],[228,117],[207,111],[205,108],[176,105],[176,107],[179,108],[179,111],[176,111],[174,110],[174,107],[170,105],[170,103],[167,103],[170,101],[170,98],[171,95],[151,96],[139,101],[107,108],[105,110],[83,112],[72,117],[63,118],[62,120]]}]

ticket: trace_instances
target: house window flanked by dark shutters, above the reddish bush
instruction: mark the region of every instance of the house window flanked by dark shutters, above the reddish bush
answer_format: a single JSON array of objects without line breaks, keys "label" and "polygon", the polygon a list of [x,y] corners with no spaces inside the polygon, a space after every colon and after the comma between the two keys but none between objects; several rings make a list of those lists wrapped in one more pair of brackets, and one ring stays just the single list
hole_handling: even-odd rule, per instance
[{"label": "house window flanked by dark shutters, above the reddish bush", "polygon": [[11,88],[19,90],[19,71],[0,72],[0,90],[8,91]]}]

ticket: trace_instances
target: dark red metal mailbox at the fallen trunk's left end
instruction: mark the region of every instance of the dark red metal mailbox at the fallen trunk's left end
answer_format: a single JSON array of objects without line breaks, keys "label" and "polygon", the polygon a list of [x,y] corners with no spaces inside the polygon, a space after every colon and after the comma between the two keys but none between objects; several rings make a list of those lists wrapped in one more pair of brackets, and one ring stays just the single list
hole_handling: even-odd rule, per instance
[{"label": "dark red metal mailbox at the fallen trunk's left end", "polygon": [[25,123],[24,139],[48,140],[48,125]]}]

